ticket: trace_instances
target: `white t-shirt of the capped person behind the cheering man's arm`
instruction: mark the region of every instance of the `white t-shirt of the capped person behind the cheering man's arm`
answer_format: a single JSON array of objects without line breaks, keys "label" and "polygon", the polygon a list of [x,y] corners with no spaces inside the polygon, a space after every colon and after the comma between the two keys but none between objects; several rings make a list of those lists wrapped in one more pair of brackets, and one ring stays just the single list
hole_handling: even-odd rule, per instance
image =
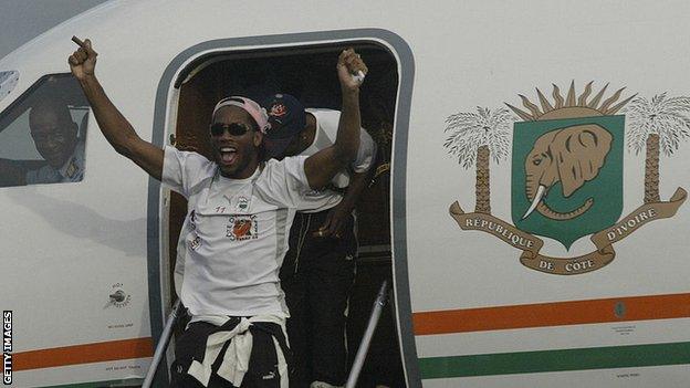
[{"label": "white t-shirt of the capped person behind the cheering man's arm", "polygon": [[[337,137],[338,123],[341,120],[341,112],[338,111],[323,108],[307,108],[305,111],[316,118],[316,132],[312,145],[303,150],[300,156],[311,156],[324,148],[331,147]],[[336,174],[333,180],[331,180],[331,183],[336,188],[346,188],[349,185],[351,172],[366,172],[372,168],[375,160],[376,143],[364,128],[360,128],[357,157],[349,165],[347,170]],[[307,192],[307,196],[311,201],[318,206],[314,210],[306,210],[304,212],[331,209],[343,200],[342,192],[331,189],[312,190]]]}]

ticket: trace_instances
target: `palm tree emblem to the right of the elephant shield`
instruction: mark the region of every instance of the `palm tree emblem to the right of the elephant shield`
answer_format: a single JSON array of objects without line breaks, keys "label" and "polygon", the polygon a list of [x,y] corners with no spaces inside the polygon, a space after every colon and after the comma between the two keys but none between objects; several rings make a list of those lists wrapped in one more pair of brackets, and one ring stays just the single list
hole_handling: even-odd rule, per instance
[{"label": "palm tree emblem to the right of the elephant shield", "polygon": [[667,157],[690,137],[690,98],[668,97],[667,93],[651,99],[635,98],[627,108],[630,119],[628,147],[645,158],[645,203],[659,202],[659,156]]}]

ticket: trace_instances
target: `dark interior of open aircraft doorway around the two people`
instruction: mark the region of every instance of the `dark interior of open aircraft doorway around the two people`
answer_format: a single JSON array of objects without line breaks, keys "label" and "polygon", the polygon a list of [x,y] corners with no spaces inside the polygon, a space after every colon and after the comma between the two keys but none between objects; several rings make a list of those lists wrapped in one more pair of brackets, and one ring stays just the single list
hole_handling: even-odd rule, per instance
[{"label": "dark interior of open aircraft doorway around the two people", "polygon": [[[271,94],[286,93],[307,108],[339,111],[335,64],[339,52],[346,46],[353,46],[369,67],[360,92],[362,124],[378,148],[370,182],[356,206],[359,253],[347,322],[352,364],[378,287],[384,280],[393,284],[389,167],[399,80],[394,55],[383,45],[370,42],[207,54],[190,63],[178,77],[176,86],[180,91],[176,133],[170,141],[179,149],[194,150],[211,158],[207,140],[211,113],[220,98],[230,95],[243,95],[261,102]],[[169,268],[174,269],[175,247],[187,205],[181,196],[170,195],[168,251]],[[172,273],[169,280],[172,284]],[[381,316],[360,375],[360,387],[405,385],[394,306],[391,300]]]}]

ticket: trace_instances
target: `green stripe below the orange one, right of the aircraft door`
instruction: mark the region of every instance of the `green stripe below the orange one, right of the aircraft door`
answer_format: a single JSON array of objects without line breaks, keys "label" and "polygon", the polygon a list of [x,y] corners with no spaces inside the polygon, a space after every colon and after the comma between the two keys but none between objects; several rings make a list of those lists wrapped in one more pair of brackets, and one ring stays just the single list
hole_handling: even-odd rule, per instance
[{"label": "green stripe below the orange one, right of the aircraft door", "polygon": [[690,343],[419,359],[422,379],[690,364]]}]

